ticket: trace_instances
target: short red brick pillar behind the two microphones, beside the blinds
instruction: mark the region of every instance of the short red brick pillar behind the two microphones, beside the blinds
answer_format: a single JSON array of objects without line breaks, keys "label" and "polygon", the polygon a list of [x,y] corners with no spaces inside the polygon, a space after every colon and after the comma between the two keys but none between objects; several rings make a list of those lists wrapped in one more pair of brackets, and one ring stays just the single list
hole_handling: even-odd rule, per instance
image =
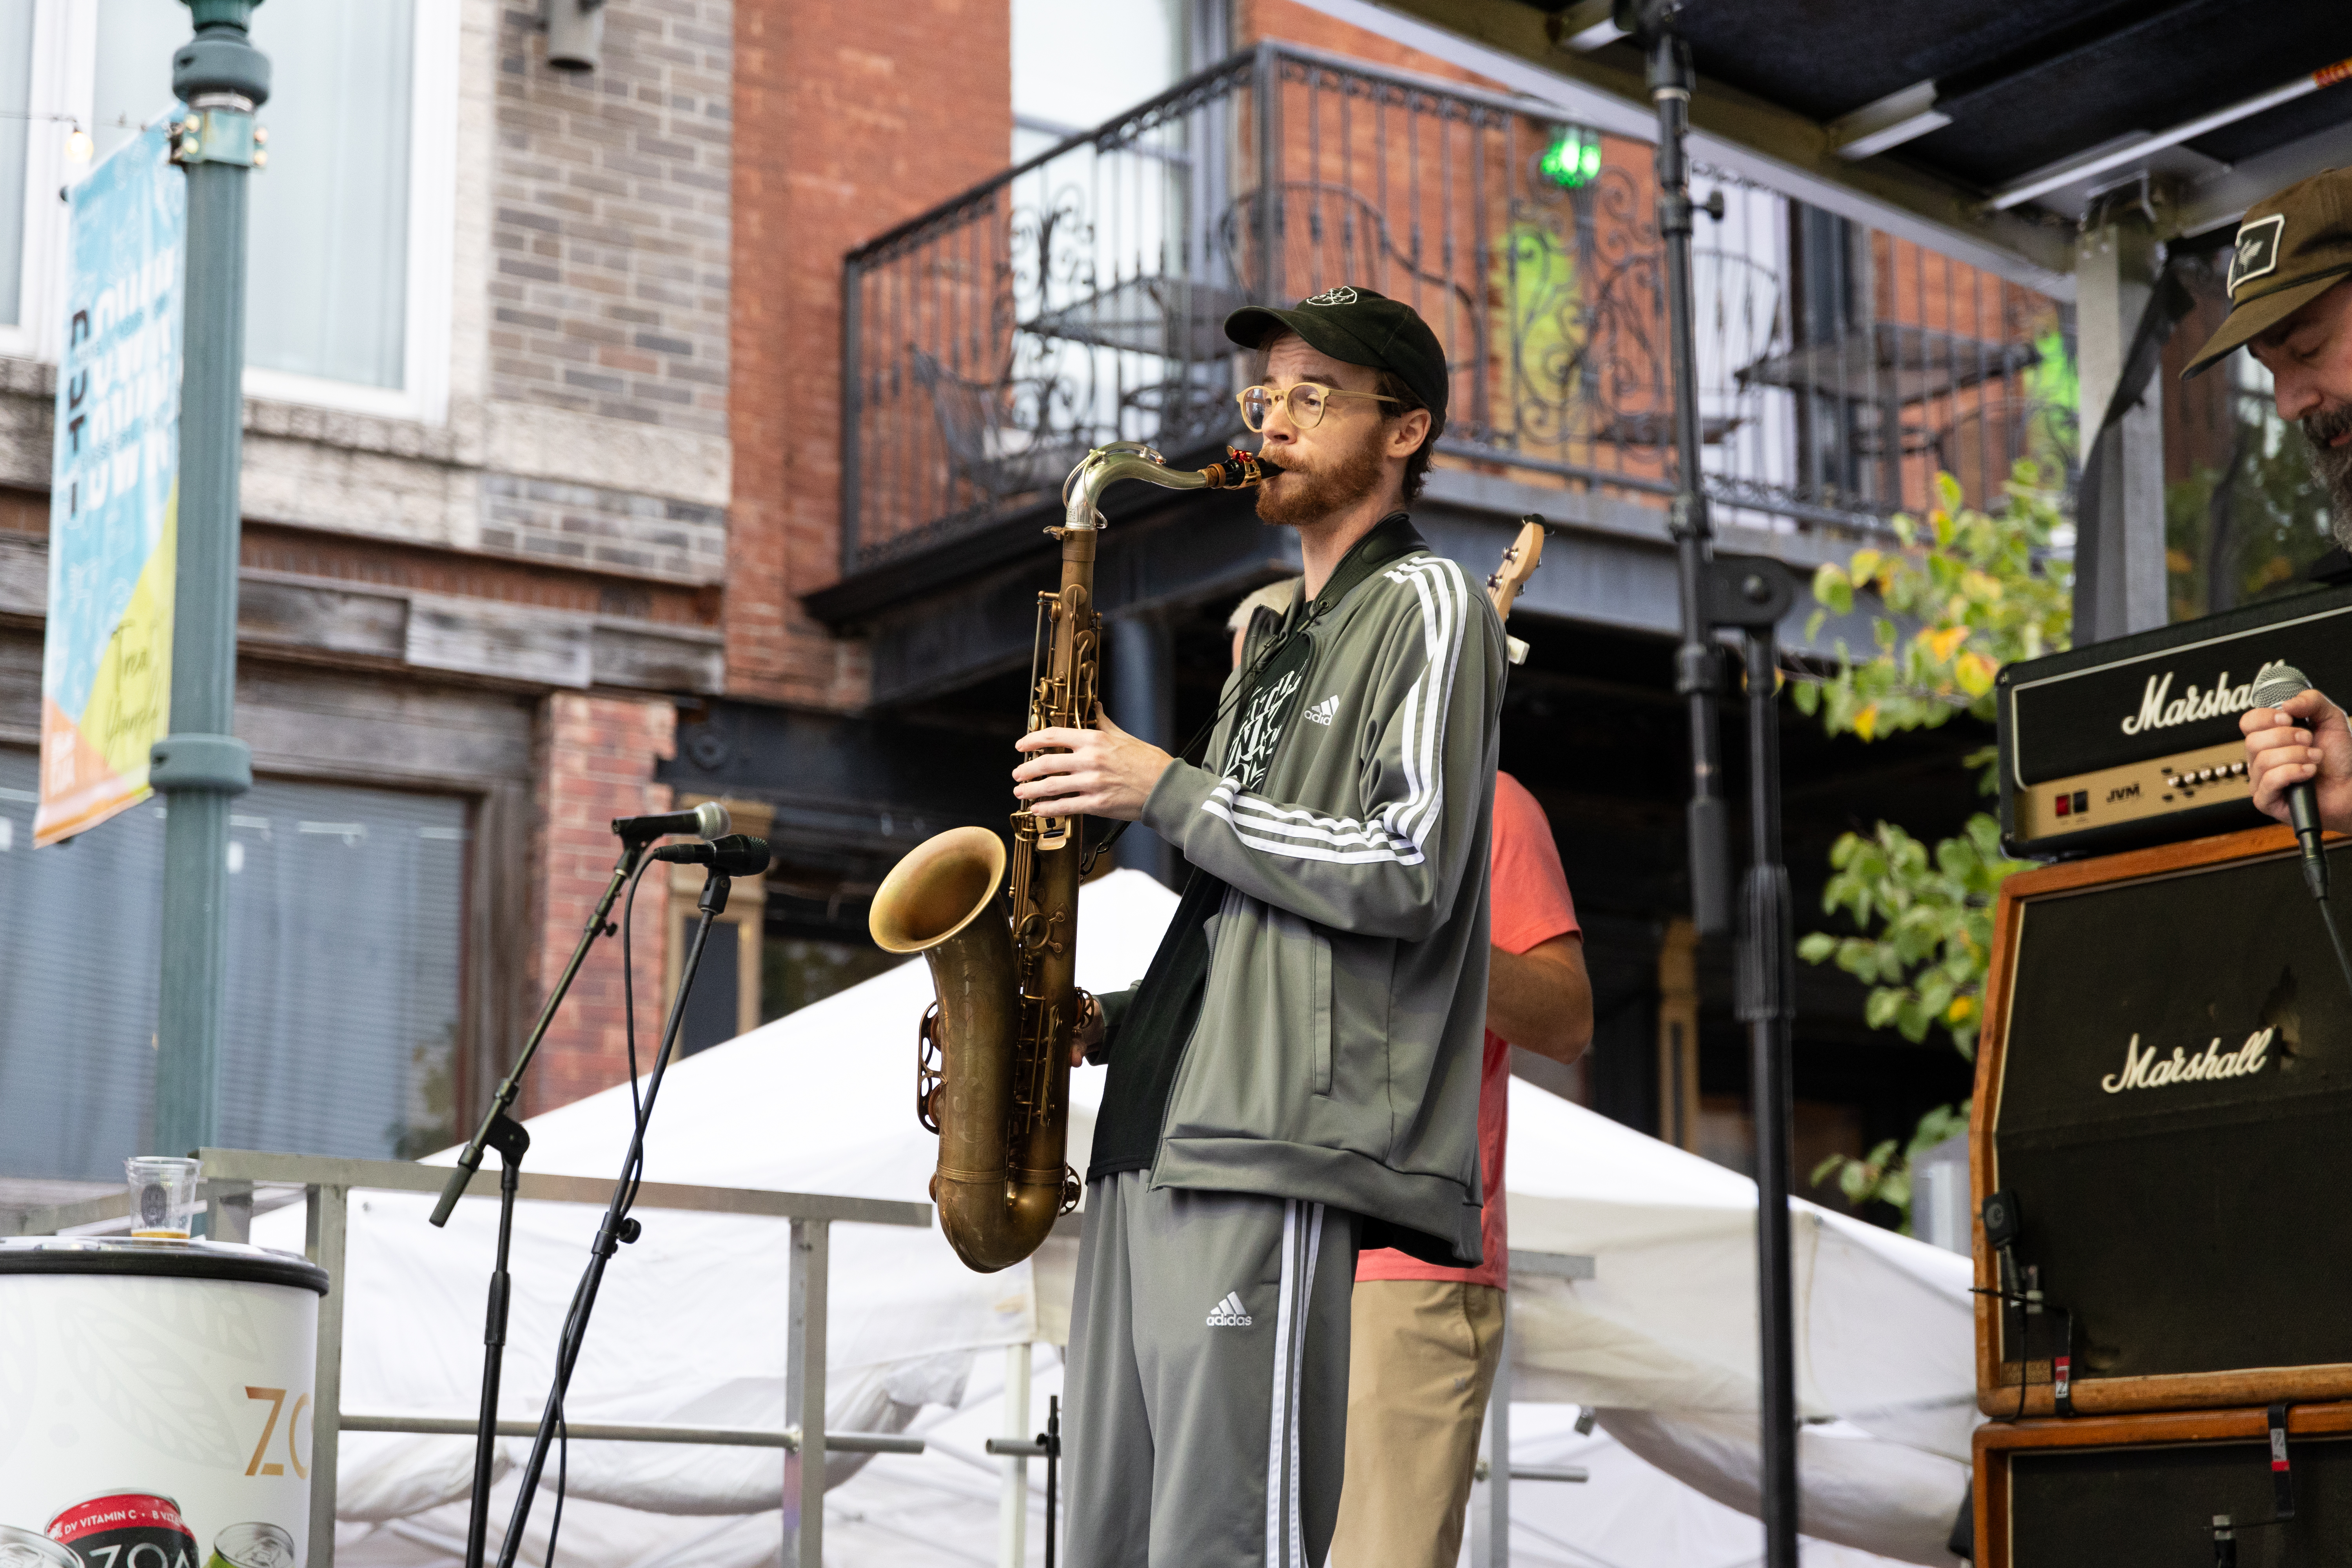
[{"label": "short red brick pillar behind the two microphones, beside the blinds", "polygon": [[[619,842],[612,818],[668,811],[670,785],[654,764],[675,755],[677,710],[668,701],[560,691],[541,710],[539,844],[532,945],[534,1018],[564,971],[581,926],[604,893]],[[663,900],[668,879],[649,872],[633,933],[637,980],[637,1067],[661,1046]],[[619,905],[614,907],[619,919]],[[621,940],[588,954],[522,1088],[522,1114],[569,1105],[628,1077],[621,1009]]]}]

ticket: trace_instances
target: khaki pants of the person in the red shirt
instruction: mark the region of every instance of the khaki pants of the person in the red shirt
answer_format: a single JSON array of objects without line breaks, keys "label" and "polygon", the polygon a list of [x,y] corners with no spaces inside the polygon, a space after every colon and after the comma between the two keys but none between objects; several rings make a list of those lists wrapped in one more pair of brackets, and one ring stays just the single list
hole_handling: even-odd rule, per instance
[{"label": "khaki pants of the person in the red shirt", "polygon": [[1503,1356],[1503,1293],[1357,1281],[1348,1338],[1348,1474],[1331,1568],[1454,1568]]}]

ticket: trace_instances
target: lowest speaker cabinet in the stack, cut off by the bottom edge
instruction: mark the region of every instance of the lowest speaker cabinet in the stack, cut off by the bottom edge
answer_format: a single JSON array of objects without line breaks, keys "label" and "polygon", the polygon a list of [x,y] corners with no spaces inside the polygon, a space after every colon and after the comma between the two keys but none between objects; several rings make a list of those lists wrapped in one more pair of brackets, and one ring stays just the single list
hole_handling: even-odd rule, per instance
[{"label": "lowest speaker cabinet in the stack, cut off by the bottom edge", "polygon": [[2347,1563],[2352,1406],[1987,1422],[1973,1497],[1976,1568]]}]

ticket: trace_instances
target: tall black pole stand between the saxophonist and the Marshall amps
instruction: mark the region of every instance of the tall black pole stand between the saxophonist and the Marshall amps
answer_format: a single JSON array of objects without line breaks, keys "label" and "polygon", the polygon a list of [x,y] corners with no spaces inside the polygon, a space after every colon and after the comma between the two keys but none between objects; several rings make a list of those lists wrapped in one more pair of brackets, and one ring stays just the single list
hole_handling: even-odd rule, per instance
[{"label": "tall black pole stand between the saxophonist and the Marshall amps", "polygon": [[[1750,867],[1740,884],[1733,969],[1748,1027],[1757,1133],[1757,1326],[1764,1460],[1764,1563],[1797,1568],[1797,1347],[1790,1291],[1790,1025],[1795,1023],[1795,912],[1780,863],[1780,712],[1773,628],[1795,604],[1788,567],[1769,557],[1717,557],[1700,468],[1698,350],[1691,301],[1691,49],[1675,31],[1682,0],[1618,0],[1616,19],[1649,54],[1658,110],[1658,237],[1665,244],[1665,310],[1675,369],[1675,564],[1682,646],[1675,691],[1691,705],[1691,924],[1700,936],[1731,926],[1731,849],[1719,792],[1715,698],[1722,689],[1717,632],[1743,632],[1748,665]],[[1708,205],[1722,219],[1722,195]]]}]

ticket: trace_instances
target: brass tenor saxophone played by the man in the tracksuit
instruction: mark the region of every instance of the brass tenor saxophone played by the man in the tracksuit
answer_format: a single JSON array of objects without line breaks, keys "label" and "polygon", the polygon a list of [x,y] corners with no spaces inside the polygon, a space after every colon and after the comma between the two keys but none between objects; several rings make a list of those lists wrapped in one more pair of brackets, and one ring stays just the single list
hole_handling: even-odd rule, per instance
[{"label": "brass tenor saxophone played by the man in the tracksuit", "polygon": [[[1242,489],[1279,473],[1232,449],[1209,468],[1169,468],[1136,442],[1096,447],[1061,487],[1061,588],[1037,595],[1028,729],[1087,729],[1101,712],[1094,543],[1105,489]],[[1070,1039],[1094,997],[1077,987],[1080,818],[1014,811],[1011,856],[985,827],[915,846],[875,889],[868,929],[884,952],[920,952],[936,999],[915,1039],[915,1117],[938,1133],[931,1201],[948,1246],[993,1274],[1037,1251],[1077,1206],[1070,1140]],[[1004,903],[997,889],[1011,884]]]}]

